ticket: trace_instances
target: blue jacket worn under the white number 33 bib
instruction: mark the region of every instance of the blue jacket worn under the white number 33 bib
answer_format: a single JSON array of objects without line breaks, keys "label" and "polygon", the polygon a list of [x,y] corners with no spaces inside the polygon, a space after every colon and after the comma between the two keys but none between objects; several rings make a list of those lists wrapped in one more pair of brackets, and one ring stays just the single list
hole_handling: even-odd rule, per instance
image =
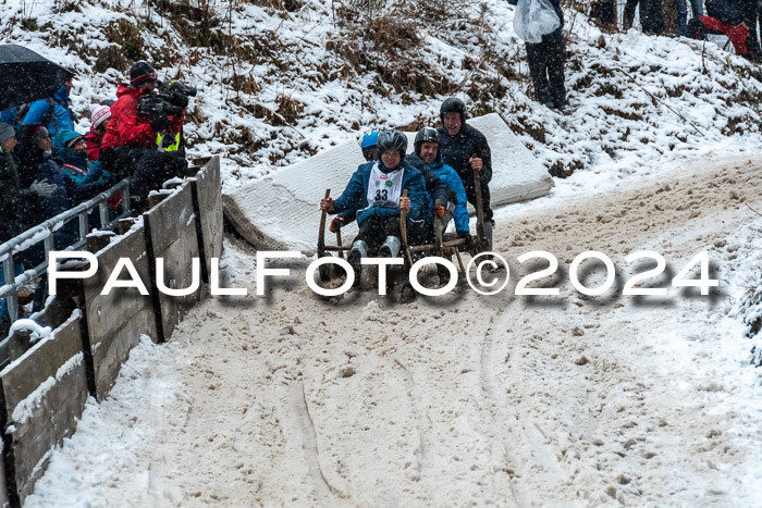
[{"label": "blue jacket worn under the white number 33 bib", "polygon": [[[361,224],[362,221],[372,215],[400,215],[398,208],[372,207],[365,210],[368,207],[368,181],[370,179],[370,172],[376,162],[378,162],[383,173],[390,173],[392,171],[384,166],[381,161],[366,162],[357,168],[357,171],[352,175],[344,193],[333,201],[335,208],[334,213],[346,214],[346,212],[354,212],[357,214],[358,224]],[[405,171],[402,178],[402,188],[407,189],[407,197],[410,199],[410,212],[407,216],[410,220],[416,220],[419,219],[425,207],[425,200],[427,199],[426,183],[423,182],[423,175],[420,174],[420,171],[404,162],[397,168],[401,166],[403,171]]]}]

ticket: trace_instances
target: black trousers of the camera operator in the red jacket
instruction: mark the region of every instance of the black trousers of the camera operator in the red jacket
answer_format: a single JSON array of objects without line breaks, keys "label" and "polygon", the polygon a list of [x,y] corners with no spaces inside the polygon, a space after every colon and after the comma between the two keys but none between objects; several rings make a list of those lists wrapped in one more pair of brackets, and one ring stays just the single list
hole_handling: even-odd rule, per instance
[{"label": "black trousers of the camera operator in the red jacket", "polygon": [[185,177],[188,163],[180,151],[157,151],[142,147],[115,147],[101,154],[106,171],[118,179],[132,177],[130,194],[146,199],[170,178]]}]

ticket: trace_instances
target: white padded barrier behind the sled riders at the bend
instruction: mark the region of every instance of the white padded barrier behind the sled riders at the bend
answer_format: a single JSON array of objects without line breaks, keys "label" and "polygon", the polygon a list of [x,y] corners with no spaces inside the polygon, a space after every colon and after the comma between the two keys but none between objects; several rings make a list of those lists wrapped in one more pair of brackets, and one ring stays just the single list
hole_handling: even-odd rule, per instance
[{"label": "white padded barrier behind the sled riders at the bend", "polygon": [[[492,206],[497,207],[550,193],[548,171],[511,132],[496,113],[468,123],[481,131],[492,149]],[[413,148],[415,133],[407,133]],[[346,141],[303,162],[223,196],[225,214],[255,247],[311,252],[317,243],[320,213],[317,203],[327,188],[337,197],[355,169],[364,163],[358,145]],[[357,233],[355,224],[345,236]]]}]

